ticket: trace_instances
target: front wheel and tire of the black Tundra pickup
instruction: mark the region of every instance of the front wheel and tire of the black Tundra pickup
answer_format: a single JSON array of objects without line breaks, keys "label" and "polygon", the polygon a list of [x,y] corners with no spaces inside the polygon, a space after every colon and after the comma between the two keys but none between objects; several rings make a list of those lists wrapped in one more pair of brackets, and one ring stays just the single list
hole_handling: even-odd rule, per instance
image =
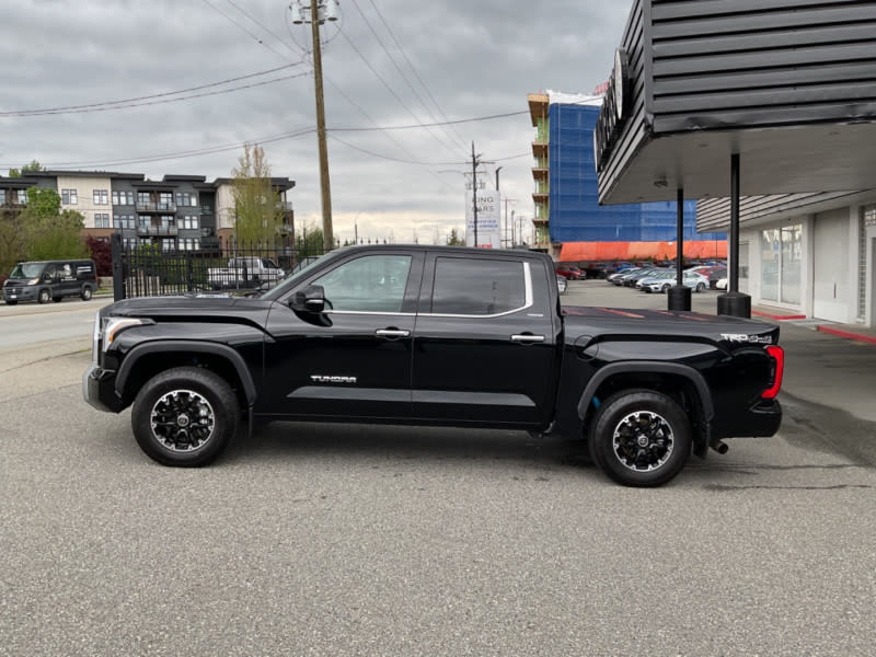
[{"label": "front wheel and tire of the black Tundra pickup", "polygon": [[170,369],[149,379],[130,415],[140,449],[163,465],[178,468],[214,461],[237,434],[239,422],[240,403],[228,382],[195,367]]}]

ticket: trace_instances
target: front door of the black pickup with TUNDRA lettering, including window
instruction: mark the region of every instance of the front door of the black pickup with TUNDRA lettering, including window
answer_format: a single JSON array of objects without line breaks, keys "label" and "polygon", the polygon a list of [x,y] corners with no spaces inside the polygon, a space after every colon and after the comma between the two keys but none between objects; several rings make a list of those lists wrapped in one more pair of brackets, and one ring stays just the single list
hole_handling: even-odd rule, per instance
[{"label": "front door of the black pickup with TUNDRA lettering, including window", "polygon": [[[371,252],[339,261],[297,287],[325,290],[323,313],[270,310],[266,402],[293,417],[405,419],[423,254]],[[291,297],[293,292],[289,295]]]}]

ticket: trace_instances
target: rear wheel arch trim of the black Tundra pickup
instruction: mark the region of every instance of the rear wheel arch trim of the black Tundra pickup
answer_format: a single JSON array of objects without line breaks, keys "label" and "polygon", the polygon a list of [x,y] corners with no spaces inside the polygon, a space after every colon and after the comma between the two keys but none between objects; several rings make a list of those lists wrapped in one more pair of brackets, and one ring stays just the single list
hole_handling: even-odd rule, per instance
[{"label": "rear wheel arch trim of the black Tundra pickup", "polygon": [[587,382],[578,401],[578,417],[585,429],[601,400],[631,388],[653,389],[676,400],[691,418],[694,453],[705,456],[715,416],[712,392],[699,371],[680,362],[627,360],[600,368]]}]

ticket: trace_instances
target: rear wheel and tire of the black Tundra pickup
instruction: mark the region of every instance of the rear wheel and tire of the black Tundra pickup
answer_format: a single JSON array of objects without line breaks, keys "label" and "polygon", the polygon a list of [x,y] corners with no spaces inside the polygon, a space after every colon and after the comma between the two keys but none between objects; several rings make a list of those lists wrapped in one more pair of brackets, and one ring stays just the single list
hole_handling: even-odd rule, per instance
[{"label": "rear wheel and tire of the black Tundra pickup", "polygon": [[669,396],[624,390],[599,406],[588,443],[593,463],[619,484],[660,486],[684,468],[691,453],[691,425]]}]

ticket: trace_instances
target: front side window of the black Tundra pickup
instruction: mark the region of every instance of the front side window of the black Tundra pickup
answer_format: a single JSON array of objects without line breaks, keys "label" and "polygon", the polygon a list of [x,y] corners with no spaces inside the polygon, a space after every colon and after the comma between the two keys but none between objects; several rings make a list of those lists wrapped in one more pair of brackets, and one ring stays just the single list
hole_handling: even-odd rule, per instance
[{"label": "front side window of the black Tundra pickup", "polygon": [[313,281],[325,289],[333,310],[401,312],[410,255],[367,255],[335,267]]}]

